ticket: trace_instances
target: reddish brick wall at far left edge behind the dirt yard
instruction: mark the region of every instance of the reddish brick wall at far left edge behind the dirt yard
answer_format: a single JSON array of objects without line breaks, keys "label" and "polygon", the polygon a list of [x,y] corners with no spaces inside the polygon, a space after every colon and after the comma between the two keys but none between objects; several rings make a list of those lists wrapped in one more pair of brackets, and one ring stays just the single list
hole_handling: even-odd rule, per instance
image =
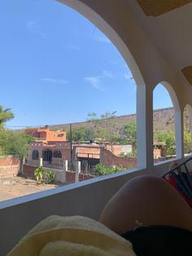
[{"label": "reddish brick wall at far left edge behind the dirt yard", "polygon": [[0,178],[17,176],[20,173],[20,160],[16,157],[0,157]]}]

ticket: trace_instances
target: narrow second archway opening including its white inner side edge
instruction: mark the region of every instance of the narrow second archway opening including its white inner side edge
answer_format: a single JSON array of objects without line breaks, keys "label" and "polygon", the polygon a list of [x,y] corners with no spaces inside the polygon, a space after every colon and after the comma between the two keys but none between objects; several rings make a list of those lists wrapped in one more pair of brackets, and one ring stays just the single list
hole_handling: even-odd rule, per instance
[{"label": "narrow second archway opening including its white inner side edge", "polygon": [[177,96],[168,82],[153,90],[154,162],[181,157],[181,112]]}]

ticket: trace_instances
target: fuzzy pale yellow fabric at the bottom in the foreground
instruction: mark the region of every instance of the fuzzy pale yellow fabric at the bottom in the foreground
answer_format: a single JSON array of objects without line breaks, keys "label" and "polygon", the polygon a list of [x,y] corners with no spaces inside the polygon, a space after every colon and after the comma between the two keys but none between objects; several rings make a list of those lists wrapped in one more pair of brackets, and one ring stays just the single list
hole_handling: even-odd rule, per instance
[{"label": "fuzzy pale yellow fabric at the bottom in the foreground", "polygon": [[28,232],[7,256],[135,256],[129,241],[82,216],[50,216]]}]

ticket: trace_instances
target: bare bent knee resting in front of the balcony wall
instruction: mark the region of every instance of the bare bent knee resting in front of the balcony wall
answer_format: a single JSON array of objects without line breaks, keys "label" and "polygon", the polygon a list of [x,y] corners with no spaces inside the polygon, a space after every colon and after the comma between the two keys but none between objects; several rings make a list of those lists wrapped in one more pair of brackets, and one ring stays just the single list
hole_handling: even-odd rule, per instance
[{"label": "bare bent knee resting in front of the balcony wall", "polygon": [[192,210],[182,196],[163,179],[141,176],[129,180],[105,206],[100,221],[123,234],[136,222],[168,225],[192,231]]}]

